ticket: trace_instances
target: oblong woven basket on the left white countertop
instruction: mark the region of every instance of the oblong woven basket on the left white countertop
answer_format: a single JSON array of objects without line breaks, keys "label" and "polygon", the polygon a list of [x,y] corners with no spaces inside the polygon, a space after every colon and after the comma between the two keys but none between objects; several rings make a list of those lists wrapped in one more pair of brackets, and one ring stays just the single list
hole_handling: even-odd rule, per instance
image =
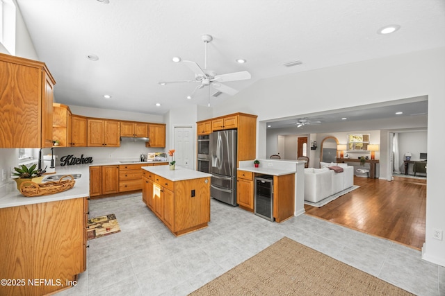
[{"label": "oblong woven basket on the left white countertop", "polygon": [[[71,180],[63,180],[65,177],[70,177]],[[74,186],[74,177],[72,175],[64,175],[58,181],[49,181],[44,183],[34,183],[31,181],[23,182],[20,185],[19,191],[28,198],[35,196],[50,195],[72,189]]]}]

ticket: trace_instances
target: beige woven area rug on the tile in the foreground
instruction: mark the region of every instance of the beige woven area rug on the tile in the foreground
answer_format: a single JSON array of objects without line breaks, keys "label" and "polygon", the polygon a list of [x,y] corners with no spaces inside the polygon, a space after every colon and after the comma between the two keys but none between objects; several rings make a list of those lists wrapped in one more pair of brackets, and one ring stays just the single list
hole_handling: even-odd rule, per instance
[{"label": "beige woven area rug on the tile in the foreground", "polygon": [[413,295],[282,238],[190,295]]}]

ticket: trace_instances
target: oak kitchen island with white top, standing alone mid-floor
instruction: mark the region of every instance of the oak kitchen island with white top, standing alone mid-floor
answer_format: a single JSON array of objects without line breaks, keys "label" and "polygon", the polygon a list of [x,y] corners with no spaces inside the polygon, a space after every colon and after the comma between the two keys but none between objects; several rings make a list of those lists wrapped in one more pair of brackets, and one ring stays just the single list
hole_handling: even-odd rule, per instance
[{"label": "oak kitchen island with white top, standing alone mid-floor", "polygon": [[143,202],[175,236],[207,227],[211,174],[143,166]]}]

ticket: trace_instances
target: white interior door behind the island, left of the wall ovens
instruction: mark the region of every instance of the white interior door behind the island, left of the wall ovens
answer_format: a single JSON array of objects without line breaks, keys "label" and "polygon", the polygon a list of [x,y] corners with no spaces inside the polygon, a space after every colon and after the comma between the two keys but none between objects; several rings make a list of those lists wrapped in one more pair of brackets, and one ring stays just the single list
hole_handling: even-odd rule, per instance
[{"label": "white interior door behind the island, left of the wall ovens", "polygon": [[175,127],[175,160],[178,166],[195,169],[193,143],[193,128]]}]

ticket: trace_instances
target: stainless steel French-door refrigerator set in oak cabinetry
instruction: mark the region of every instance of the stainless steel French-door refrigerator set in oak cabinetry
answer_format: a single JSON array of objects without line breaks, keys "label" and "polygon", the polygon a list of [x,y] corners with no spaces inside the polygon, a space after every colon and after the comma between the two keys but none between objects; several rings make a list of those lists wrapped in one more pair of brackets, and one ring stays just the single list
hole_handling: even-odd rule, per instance
[{"label": "stainless steel French-door refrigerator set in oak cabinetry", "polygon": [[211,189],[216,200],[236,206],[236,130],[212,132],[211,141]]}]

